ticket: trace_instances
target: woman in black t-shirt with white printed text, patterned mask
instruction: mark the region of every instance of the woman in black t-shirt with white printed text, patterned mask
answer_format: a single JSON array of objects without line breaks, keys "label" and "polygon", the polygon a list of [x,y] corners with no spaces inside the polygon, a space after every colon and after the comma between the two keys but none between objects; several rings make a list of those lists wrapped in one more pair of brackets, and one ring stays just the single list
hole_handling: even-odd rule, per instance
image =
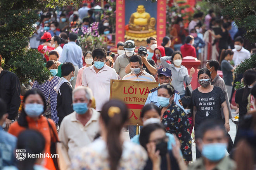
[{"label": "woman in black t-shirt with white printed text, patterned mask", "polygon": [[[211,73],[207,68],[198,71],[198,83],[201,85],[191,93],[193,101],[194,133],[199,125],[207,119],[222,120],[220,108],[225,117],[225,129],[229,132],[229,113],[225,96],[220,87],[211,85]],[[197,158],[200,153],[196,150]]]}]

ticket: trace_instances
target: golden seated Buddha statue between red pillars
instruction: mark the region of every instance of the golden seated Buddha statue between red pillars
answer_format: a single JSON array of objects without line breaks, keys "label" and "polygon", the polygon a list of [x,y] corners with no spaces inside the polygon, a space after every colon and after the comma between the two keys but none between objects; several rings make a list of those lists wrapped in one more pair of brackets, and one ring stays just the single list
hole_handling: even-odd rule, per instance
[{"label": "golden seated Buddha statue between red pillars", "polygon": [[137,12],[131,14],[125,38],[141,42],[146,41],[150,36],[156,37],[155,25],[156,19],[145,12],[143,5],[138,5]]}]

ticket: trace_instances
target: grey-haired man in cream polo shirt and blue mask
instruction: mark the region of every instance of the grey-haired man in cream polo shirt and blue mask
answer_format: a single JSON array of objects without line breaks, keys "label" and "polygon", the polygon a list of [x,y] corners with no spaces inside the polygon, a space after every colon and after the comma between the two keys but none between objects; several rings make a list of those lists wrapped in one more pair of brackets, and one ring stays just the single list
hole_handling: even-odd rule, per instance
[{"label": "grey-haired man in cream polo shirt and blue mask", "polygon": [[70,158],[78,149],[90,144],[100,130],[100,113],[90,108],[92,90],[80,86],[73,91],[72,98],[74,112],[64,117],[59,129],[59,138]]}]

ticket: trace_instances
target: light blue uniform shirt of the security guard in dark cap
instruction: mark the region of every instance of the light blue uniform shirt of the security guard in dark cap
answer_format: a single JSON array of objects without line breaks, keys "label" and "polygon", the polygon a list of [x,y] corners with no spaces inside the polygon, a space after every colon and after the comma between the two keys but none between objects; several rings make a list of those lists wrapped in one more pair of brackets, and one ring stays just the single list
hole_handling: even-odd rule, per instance
[{"label": "light blue uniform shirt of the security guard in dark cap", "polygon": [[[149,90],[149,95],[147,96],[145,105],[152,103],[152,104],[157,105],[157,107],[160,106],[160,104],[157,102],[157,89],[158,89],[158,87]],[[182,108],[184,110],[182,101],[180,100],[180,92],[175,90],[173,101],[176,103],[176,105],[180,106],[180,108]]]}]

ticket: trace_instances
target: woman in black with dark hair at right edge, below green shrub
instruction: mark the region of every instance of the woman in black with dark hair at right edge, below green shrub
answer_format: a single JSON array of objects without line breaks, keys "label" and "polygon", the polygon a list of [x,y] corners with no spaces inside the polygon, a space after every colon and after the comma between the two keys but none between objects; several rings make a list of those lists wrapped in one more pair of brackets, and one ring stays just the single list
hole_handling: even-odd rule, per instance
[{"label": "woman in black with dark hair at right edge, below green shrub", "polygon": [[235,104],[239,108],[239,122],[242,121],[244,115],[247,113],[248,96],[250,89],[256,82],[256,70],[249,69],[244,72],[244,87],[239,88],[235,92]]}]

